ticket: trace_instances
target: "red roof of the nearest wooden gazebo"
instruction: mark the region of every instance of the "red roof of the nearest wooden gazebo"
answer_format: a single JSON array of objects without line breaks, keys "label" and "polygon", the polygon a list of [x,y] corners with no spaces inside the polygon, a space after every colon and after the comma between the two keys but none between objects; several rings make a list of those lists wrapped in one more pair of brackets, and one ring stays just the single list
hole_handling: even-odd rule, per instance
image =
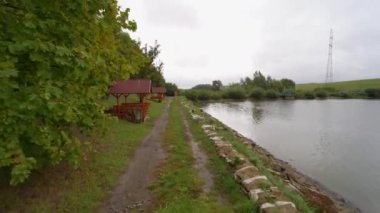
[{"label": "red roof of the nearest wooden gazebo", "polygon": [[152,81],[148,79],[117,80],[108,89],[111,94],[148,94],[151,92]]}]

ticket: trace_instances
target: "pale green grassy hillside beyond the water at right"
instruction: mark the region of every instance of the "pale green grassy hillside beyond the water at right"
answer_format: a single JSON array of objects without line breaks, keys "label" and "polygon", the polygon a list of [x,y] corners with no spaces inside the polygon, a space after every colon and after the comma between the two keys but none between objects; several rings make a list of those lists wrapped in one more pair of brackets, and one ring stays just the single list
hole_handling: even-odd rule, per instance
[{"label": "pale green grassy hillside beyond the water at right", "polygon": [[380,78],[376,79],[364,79],[355,81],[340,81],[329,84],[324,83],[309,83],[309,84],[297,84],[296,90],[306,91],[314,90],[321,87],[334,87],[340,91],[354,91],[354,90],[364,90],[367,88],[377,88],[380,89]]}]

